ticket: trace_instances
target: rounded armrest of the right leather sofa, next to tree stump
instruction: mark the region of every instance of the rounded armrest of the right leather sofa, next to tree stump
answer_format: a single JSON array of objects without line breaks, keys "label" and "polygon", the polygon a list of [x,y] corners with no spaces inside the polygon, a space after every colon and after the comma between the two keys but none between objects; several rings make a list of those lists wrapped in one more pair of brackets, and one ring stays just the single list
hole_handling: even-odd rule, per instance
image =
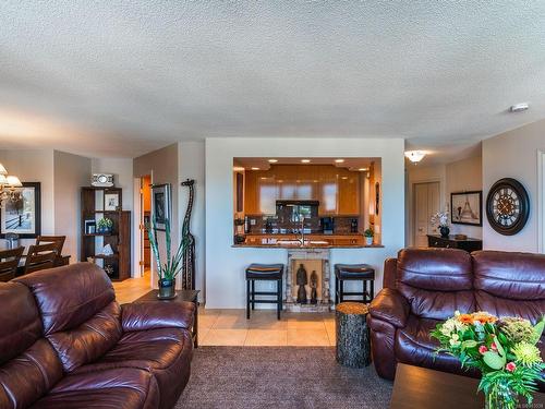
[{"label": "rounded armrest of the right leather sofa, next to tree stump", "polygon": [[398,290],[384,288],[370,305],[371,316],[403,328],[409,317],[409,303]]}]

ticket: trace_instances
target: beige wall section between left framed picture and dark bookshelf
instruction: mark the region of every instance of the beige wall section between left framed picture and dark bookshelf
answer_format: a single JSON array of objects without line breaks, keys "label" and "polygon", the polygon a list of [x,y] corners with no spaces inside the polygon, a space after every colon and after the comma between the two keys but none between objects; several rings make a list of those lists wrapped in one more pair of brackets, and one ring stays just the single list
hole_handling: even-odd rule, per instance
[{"label": "beige wall section between left framed picture and dark bookshelf", "polygon": [[53,197],[55,234],[66,236],[63,254],[77,263],[81,246],[81,188],[90,182],[90,159],[55,151]]}]

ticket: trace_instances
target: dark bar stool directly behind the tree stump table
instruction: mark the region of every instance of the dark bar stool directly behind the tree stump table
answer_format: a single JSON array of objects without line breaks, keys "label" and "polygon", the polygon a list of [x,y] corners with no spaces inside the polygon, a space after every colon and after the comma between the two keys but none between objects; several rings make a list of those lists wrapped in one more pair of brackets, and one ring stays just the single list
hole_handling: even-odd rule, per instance
[{"label": "dark bar stool directly behind the tree stump table", "polygon": [[[346,280],[363,281],[363,292],[346,292]],[[371,289],[367,291],[367,281]],[[344,296],[360,296],[360,302],[371,302],[375,297],[375,269],[368,264],[336,264],[335,265],[335,303],[344,301]]]}]

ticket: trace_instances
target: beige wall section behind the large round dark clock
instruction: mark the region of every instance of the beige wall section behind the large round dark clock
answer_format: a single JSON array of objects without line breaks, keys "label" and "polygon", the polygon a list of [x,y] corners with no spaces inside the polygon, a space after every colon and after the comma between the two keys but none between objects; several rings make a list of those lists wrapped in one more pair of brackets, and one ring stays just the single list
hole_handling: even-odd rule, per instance
[{"label": "beige wall section behind the large round dark clock", "polygon": [[545,120],[483,141],[483,185],[486,193],[501,178],[520,181],[530,195],[530,218],[516,236],[497,233],[484,217],[485,249],[537,252],[537,152],[545,151]]}]

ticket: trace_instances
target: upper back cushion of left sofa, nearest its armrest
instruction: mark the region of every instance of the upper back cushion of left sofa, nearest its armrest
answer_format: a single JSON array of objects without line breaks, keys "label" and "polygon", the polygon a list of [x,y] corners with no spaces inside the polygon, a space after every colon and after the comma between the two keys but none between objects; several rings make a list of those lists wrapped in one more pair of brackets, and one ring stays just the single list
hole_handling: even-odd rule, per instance
[{"label": "upper back cushion of left sofa, nearest its armrest", "polygon": [[116,300],[106,273],[90,263],[44,269],[15,281],[33,292],[46,335],[76,328]]}]

